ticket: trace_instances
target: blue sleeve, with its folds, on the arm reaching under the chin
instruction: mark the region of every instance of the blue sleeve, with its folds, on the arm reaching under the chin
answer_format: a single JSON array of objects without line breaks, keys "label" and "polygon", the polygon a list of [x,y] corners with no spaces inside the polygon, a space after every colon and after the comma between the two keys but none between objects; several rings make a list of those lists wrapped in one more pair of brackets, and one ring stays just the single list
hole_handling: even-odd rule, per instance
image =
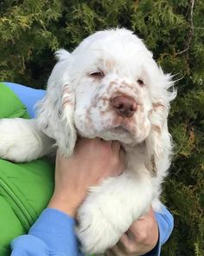
[{"label": "blue sleeve, with its folds, on the arm reaching under the chin", "polygon": [[75,220],[56,209],[45,209],[29,234],[11,242],[11,256],[83,256],[74,233]]}]

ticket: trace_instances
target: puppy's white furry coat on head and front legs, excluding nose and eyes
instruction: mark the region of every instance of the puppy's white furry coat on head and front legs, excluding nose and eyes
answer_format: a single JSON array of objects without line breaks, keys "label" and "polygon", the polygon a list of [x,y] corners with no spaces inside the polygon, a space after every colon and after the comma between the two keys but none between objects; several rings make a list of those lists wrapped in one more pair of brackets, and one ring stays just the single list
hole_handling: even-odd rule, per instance
[{"label": "puppy's white furry coat on head and front legs, excluding nose and eyes", "polygon": [[[173,82],[143,41],[125,29],[99,31],[71,54],[61,49],[56,55],[59,62],[38,105],[38,127],[35,121],[1,121],[0,157],[31,161],[48,154],[48,137],[67,156],[73,153],[77,135],[120,141],[124,174],[91,187],[78,213],[76,230],[83,250],[103,253],[150,204],[160,208],[161,183],[172,151],[167,118],[169,102],[175,98],[175,92],[169,92]],[[94,72],[103,75],[94,77]],[[137,102],[134,115],[118,116],[111,106],[118,95]]]}]

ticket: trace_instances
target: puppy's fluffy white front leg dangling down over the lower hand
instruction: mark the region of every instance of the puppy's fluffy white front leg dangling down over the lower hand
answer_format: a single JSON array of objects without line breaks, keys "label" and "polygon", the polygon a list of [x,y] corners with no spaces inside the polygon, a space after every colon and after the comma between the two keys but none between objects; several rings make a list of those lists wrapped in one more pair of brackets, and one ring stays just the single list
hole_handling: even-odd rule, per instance
[{"label": "puppy's fluffy white front leg dangling down over the lower hand", "polygon": [[92,188],[78,212],[76,233],[82,250],[105,253],[115,246],[131,223],[150,206],[150,194],[148,183],[138,184],[128,174],[109,178]]}]

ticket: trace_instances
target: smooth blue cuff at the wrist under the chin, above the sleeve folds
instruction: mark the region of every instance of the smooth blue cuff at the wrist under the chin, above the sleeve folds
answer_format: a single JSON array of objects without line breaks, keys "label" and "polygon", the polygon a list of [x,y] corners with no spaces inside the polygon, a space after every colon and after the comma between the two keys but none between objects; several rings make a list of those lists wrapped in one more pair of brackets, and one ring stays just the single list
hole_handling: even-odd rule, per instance
[{"label": "smooth blue cuff at the wrist under the chin, above the sleeve folds", "polygon": [[75,221],[66,213],[47,208],[30,228],[29,235],[43,240],[49,251],[60,255],[79,256],[78,240],[74,232]]}]

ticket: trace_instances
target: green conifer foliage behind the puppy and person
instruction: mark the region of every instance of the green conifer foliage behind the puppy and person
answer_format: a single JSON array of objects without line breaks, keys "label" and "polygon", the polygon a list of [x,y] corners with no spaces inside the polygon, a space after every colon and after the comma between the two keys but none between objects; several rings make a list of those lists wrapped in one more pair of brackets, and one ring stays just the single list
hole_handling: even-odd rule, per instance
[{"label": "green conifer foliage behind the puppy and person", "polygon": [[117,26],[134,30],[164,71],[175,75],[178,95],[169,117],[175,154],[163,185],[163,201],[175,216],[175,229],[163,246],[164,256],[204,255],[203,16],[201,0],[0,3],[3,81],[44,88],[55,49],[72,50],[92,32]]}]

